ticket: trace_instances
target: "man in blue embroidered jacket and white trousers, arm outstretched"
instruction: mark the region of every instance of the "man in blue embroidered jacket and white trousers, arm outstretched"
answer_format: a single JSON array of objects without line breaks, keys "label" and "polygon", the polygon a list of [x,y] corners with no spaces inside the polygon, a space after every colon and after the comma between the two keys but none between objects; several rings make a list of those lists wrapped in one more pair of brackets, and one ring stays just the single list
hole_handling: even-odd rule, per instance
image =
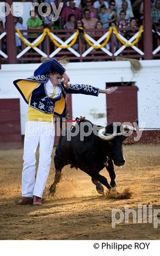
[{"label": "man in blue embroidered jacket and white trousers, arm outstretched", "polygon": [[[98,96],[99,93],[110,94],[117,90],[117,87],[100,90],[90,85],[73,85],[68,82],[65,68],[56,59],[41,64],[34,71],[33,77],[13,82],[29,104],[24,141],[22,199],[19,204],[42,204],[54,145],[53,116],[65,117],[66,94]],[[35,179],[35,152],[38,144],[39,164]]]}]

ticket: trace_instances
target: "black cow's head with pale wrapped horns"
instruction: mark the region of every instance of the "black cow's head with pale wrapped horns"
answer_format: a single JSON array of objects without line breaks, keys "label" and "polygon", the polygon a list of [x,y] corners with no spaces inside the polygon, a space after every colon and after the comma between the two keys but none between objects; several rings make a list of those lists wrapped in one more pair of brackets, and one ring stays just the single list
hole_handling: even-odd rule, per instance
[{"label": "black cow's head with pale wrapped horns", "polygon": [[125,164],[122,148],[122,143],[127,138],[127,136],[125,136],[125,133],[127,135],[129,130],[136,131],[136,129],[133,127],[124,126],[124,132],[122,133],[120,128],[121,126],[117,126],[116,128],[114,124],[111,124],[98,131],[98,136],[100,137],[100,139],[106,141],[106,143],[110,146],[110,158],[114,161],[114,164],[117,166],[122,166]]}]

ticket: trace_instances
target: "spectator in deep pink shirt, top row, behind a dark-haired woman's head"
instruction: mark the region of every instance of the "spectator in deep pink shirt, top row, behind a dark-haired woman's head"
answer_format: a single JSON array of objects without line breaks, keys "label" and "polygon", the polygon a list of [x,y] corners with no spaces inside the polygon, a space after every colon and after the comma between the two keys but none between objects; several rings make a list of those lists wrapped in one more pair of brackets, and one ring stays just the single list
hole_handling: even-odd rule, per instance
[{"label": "spectator in deep pink shirt, top row, behind a dark-haired woman's head", "polygon": [[62,12],[62,18],[64,24],[68,21],[68,16],[69,14],[74,14],[76,17],[76,20],[81,18],[81,13],[77,7],[75,7],[75,1],[70,0],[69,1],[69,6],[66,6]]}]

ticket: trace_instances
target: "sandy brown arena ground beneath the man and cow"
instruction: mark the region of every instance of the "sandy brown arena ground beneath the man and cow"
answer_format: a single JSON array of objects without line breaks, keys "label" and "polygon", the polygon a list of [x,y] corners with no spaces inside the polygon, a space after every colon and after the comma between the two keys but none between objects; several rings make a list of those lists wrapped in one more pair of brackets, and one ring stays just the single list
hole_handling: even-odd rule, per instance
[{"label": "sandy brown arena ground beneath the man and cow", "polygon": [[[39,207],[17,204],[23,149],[0,151],[0,239],[160,239],[160,224],[154,228],[148,217],[146,224],[133,224],[130,215],[128,224],[123,221],[111,227],[111,211],[124,210],[125,204],[136,211],[144,204],[160,209],[160,144],[126,145],[124,156],[125,166],[115,167],[117,190],[128,187],[132,191],[130,199],[98,194],[91,178],[69,165],[63,169],[55,197],[48,197],[54,179],[52,162],[43,205]],[[109,179],[105,169],[101,174]]]}]

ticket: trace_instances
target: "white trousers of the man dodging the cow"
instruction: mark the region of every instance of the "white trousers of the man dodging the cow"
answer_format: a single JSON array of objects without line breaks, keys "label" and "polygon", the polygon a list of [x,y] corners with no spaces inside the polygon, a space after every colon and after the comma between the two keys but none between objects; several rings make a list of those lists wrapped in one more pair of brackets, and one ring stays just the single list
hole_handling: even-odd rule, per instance
[{"label": "white trousers of the man dodging the cow", "polygon": [[[51,165],[55,138],[54,124],[26,122],[24,141],[24,165],[22,171],[22,196],[42,197]],[[39,164],[35,179],[35,152],[39,144]]]}]

